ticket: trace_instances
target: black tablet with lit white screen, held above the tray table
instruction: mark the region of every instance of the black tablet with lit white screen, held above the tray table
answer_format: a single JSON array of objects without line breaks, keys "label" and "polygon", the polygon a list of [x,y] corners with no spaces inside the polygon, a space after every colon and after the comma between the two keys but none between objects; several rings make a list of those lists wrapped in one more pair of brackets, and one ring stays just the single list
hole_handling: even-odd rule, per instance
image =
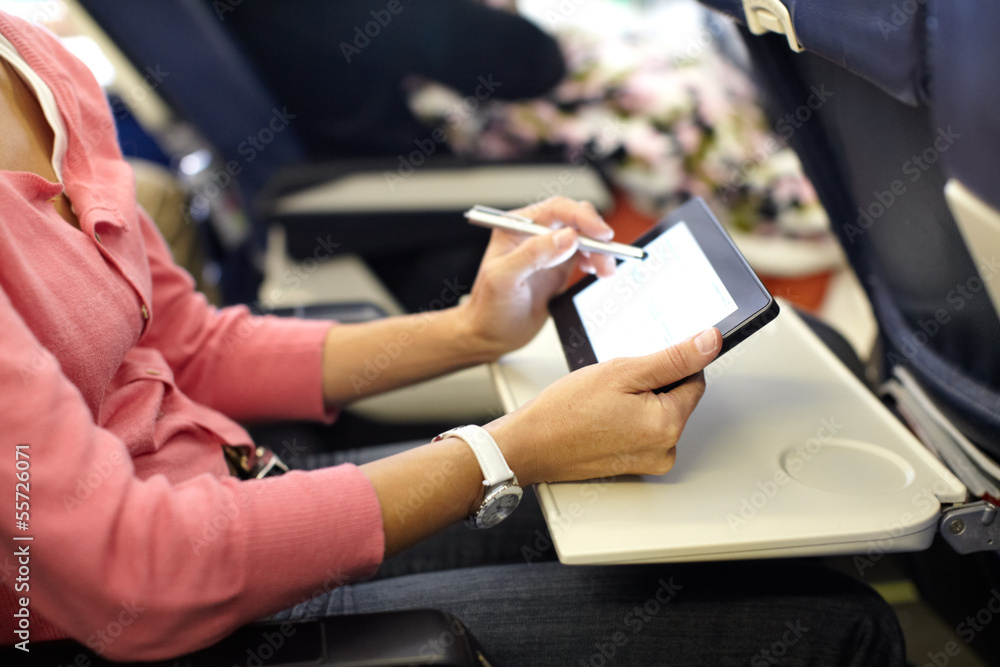
[{"label": "black tablet with lit white screen, held above the tray table", "polygon": [[619,261],[614,276],[587,276],[549,303],[570,370],[651,354],[712,326],[722,332],[721,356],[778,314],[700,198],[633,245],[645,259]]}]

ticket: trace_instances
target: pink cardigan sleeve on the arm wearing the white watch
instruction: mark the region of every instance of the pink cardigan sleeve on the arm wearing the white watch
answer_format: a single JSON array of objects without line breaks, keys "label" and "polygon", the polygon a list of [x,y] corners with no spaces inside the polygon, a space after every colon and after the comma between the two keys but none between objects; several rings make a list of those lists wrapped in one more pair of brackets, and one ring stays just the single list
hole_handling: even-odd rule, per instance
[{"label": "pink cardigan sleeve on the arm wearing the white watch", "polygon": [[[125,443],[94,423],[2,290],[0,386],[0,488],[13,497],[30,484],[28,530],[5,512],[0,539],[29,545],[31,563],[30,591],[7,579],[0,597],[29,595],[32,614],[108,658],[198,649],[381,561],[378,499],[354,466],[138,479]],[[33,540],[12,541],[24,535]],[[125,611],[128,626],[107,641]]]}]

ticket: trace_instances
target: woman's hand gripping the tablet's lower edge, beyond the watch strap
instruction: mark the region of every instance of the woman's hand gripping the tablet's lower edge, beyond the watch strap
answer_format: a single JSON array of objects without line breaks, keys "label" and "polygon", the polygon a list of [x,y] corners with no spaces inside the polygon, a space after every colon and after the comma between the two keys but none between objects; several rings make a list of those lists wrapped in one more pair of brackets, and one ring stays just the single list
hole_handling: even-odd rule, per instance
[{"label": "woman's hand gripping the tablet's lower edge, beyond the watch strap", "polygon": [[[673,467],[688,417],[705,392],[701,373],[722,347],[718,329],[644,357],[570,373],[486,425],[527,486],[609,475],[662,475]],[[654,389],[687,378],[662,393]]]}]

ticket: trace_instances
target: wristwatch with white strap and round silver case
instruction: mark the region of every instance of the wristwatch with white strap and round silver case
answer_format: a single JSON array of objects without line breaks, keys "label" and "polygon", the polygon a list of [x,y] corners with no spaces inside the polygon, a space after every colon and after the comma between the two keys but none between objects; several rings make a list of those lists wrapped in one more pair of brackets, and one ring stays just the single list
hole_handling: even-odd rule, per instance
[{"label": "wristwatch with white strap and round silver case", "polygon": [[493,436],[481,426],[460,426],[445,431],[434,438],[433,442],[445,438],[464,440],[472,448],[483,471],[486,495],[479,510],[466,520],[465,525],[470,528],[492,528],[509,517],[521,502],[522,492],[517,476],[507,465]]}]

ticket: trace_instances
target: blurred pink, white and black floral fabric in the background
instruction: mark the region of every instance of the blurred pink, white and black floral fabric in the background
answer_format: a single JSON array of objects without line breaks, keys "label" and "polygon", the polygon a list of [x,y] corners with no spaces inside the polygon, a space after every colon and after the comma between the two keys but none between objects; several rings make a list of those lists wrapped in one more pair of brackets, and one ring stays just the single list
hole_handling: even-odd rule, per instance
[{"label": "blurred pink, white and black floral fabric in the background", "polygon": [[412,97],[415,113],[445,128],[461,155],[586,158],[652,216],[701,196],[731,229],[832,240],[787,136],[769,126],[748,74],[716,48],[725,31],[703,24],[694,48],[673,54],[650,31],[552,32],[569,75],[545,99],[470,109],[449,89],[425,84]]}]

